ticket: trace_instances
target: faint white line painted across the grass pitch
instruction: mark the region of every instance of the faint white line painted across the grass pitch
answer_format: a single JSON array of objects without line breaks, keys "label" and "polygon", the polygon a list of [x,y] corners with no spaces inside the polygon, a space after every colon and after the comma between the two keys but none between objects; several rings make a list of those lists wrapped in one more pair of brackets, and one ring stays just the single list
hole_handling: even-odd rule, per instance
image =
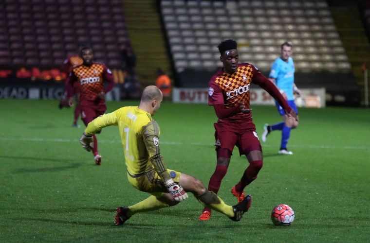
[{"label": "faint white line painted across the grass pitch", "polygon": [[[77,139],[42,139],[42,138],[0,138],[2,141],[38,141],[38,142],[75,142],[77,143]],[[99,139],[99,142],[107,142],[107,143],[120,143],[120,140],[106,140],[106,139]],[[205,143],[201,142],[175,142],[175,141],[161,141],[162,144],[169,144],[169,145],[206,145]],[[213,145],[209,143],[209,145]],[[273,147],[277,146],[276,144],[261,144],[262,147]],[[311,149],[357,149],[357,150],[370,150],[369,146],[335,146],[335,145],[295,145],[289,144],[289,147],[294,148],[311,148]]]}]

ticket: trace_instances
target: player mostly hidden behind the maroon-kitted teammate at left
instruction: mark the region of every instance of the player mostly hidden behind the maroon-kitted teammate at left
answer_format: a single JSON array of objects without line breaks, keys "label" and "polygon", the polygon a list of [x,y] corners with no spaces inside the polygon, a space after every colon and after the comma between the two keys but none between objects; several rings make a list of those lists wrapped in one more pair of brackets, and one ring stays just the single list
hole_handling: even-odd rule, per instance
[{"label": "player mostly hidden behind the maroon-kitted teammate at left", "polygon": [[[78,55],[72,55],[69,56],[63,63],[63,65],[60,67],[60,71],[66,74],[66,80],[64,82],[64,97],[59,102],[59,108],[62,109],[64,106],[69,107],[69,104],[67,102],[67,85],[69,84],[69,74],[72,71],[72,69],[76,66],[79,66],[83,63],[83,60]],[[80,104],[79,104],[79,89],[80,85],[78,82],[74,83],[73,86],[73,93],[76,96],[76,106],[74,107],[74,119],[73,119],[73,125],[74,127],[80,127],[80,125],[77,124],[78,117],[80,115]]]}]

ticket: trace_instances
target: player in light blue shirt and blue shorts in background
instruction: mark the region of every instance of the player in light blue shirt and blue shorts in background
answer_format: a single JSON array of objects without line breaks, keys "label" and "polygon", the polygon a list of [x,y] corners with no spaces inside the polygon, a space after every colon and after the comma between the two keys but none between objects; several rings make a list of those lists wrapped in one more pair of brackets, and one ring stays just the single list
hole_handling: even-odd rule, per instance
[{"label": "player in light blue shirt and blue shorts in background", "polygon": [[[292,43],[284,42],[281,45],[280,53],[280,57],[277,58],[272,65],[269,79],[274,82],[284,99],[287,100],[288,104],[296,111],[296,114],[298,114],[297,106],[294,103],[294,93],[300,96],[301,91],[294,83],[295,68],[293,58],[291,57],[293,53]],[[261,137],[262,142],[266,142],[267,135],[269,135],[270,132],[279,130],[281,131],[281,144],[278,153],[282,155],[293,155],[293,152],[287,149],[287,143],[289,141],[290,131],[298,126],[298,120],[289,119],[285,114],[284,109],[276,100],[275,104],[283,121],[274,125],[265,124],[263,126],[263,134]]]}]

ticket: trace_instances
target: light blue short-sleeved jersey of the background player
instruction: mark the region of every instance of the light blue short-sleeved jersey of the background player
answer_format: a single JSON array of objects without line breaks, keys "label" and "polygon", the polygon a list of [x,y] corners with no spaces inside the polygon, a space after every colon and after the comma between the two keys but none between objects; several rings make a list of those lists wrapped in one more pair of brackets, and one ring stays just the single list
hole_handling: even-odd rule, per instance
[{"label": "light blue short-sleeved jersey of the background player", "polygon": [[288,101],[294,100],[293,84],[295,71],[296,69],[294,68],[292,57],[288,58],[288,62],[285,62],[281,57],[279,57],[272,64],[269,74],[270,78],[275,79],[277,87],[287,94]]}]

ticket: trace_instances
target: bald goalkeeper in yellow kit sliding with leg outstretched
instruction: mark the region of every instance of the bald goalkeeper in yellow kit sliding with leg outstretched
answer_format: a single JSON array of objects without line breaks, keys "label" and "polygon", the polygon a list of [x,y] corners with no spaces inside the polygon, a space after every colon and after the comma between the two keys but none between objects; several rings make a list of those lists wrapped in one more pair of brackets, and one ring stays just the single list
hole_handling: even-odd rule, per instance
[{"label": "bald goalkeeper in yellow kit sliding with leg outstretched", "polygon": [[207,191],[200,180],[166,168],[159,149],[160,129],[152,118],[162,100],[160,89],[148,86],[143,91],[139,106],[122,107],[96,118],[88,124],[80,139],[82,147],[90,151],[94,147],[93,134],[106,126],[118,126],[129,183],[151,194],[133,206],[117,208],[115,224],[123,225],[138,212],[174,206],[188,198],[186,191],[192,192],[207,207],[239,221],[248,210],[250,195],[236,206],[228,206],[215,193]]}]

